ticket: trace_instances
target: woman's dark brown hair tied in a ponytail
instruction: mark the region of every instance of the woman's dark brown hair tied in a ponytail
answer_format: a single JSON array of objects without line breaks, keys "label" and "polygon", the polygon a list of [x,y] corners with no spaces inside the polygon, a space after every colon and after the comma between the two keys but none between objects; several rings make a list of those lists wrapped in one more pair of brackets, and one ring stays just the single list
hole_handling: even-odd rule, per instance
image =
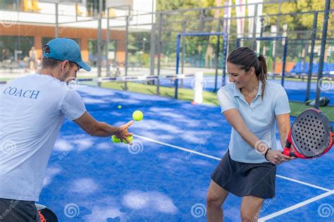
[{"label": "woman's dark brown hair tied in a ponytail", "polygon": [[252,67],[255,68],[255,75],[262,82],[261,98],[264,99],[264,89],[266,88],[268,75],[266,58],[261,54],[258,56],[252,49],[240,47],[230,52],[227,61],[237,65],[238,68],[246,72]]}]

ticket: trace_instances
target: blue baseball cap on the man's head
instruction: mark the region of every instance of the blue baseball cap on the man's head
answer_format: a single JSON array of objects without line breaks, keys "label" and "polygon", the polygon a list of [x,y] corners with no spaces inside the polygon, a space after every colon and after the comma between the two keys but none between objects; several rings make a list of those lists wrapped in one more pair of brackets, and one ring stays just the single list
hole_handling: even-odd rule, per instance
[{"label": "blue baseball cap on the man's head", "polygon": [[68,60],[77,63],[80,68],[90,71],[91,68],[82,61],[80,47],[77,42],[68,38],[52,39],[47,43],[50,51],[43,51],[43,56],[47,58],[54,58],[56,60]]}]

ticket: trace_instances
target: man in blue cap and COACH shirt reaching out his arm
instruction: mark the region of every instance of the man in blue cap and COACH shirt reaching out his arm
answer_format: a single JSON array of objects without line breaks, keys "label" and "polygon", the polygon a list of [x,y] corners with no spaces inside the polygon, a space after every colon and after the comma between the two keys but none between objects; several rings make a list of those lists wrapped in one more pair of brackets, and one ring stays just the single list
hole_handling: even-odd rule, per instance
[{"label": "man in blue cap and COACH shirt reaching out his arm", "polygon": [[0,91],[0,221],[39,221],[38,201],[51,151],[64,118],[92,136],[126,140],[132,121],[120,127],[95,120],[68,87],[80,68],[80,47],[58,38],[43,47],[42,69]]}]

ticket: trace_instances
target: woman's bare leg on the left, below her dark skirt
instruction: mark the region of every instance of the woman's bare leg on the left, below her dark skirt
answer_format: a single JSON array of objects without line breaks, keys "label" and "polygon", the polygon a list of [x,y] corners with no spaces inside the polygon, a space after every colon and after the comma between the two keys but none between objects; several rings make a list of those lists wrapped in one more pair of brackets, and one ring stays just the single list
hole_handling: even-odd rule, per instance
[{"label": "woman's bare leg on the left, below her dark skirt", "polygon": [[208,222],[223,221],[222,205],[229,192],[211,180],[206,196],[206,217]]}]

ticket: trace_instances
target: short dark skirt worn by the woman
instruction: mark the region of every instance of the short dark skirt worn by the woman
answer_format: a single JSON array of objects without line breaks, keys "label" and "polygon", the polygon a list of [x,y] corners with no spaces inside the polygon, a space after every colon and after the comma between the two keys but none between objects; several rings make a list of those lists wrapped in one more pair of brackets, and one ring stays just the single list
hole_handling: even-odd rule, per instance
[{"label": "short dark skirt worn by the woman", "polygon": [[275,196],[276,165],[233,161],[230,158],[230,152],[226,152],[214,173],[211,174],[211,179],[238,197],[273,198]]}]

